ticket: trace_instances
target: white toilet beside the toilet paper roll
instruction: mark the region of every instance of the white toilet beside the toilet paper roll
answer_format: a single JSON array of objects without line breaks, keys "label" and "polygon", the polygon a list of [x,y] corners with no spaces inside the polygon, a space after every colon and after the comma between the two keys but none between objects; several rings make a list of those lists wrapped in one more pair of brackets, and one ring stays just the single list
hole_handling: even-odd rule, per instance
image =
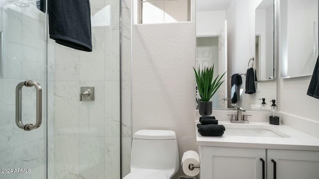
[{"label": "white toilet beside the toilet paper roll", "polygon": [[140,130],[133,136],[131,173],[124,179],[171,179],[178,163],[174,131]]}]

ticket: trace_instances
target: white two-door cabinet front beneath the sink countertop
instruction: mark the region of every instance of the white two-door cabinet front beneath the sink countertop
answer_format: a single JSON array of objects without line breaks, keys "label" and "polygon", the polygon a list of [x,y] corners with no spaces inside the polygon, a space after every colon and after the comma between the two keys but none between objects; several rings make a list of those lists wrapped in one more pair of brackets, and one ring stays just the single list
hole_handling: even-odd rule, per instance
[{"label": "white two-door cabinet front beneath the sink countertop", "polygon": [[199,146],[199,153],[200,179],[319,179],[319,152]]}]

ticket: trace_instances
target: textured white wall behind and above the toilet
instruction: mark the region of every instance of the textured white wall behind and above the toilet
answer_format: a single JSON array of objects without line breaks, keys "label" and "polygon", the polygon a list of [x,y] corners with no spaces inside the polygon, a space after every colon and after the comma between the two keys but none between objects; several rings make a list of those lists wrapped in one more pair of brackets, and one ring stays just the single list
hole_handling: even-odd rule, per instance
[{"label": "textured white wall behind and above the toilet", "polygon": [[133,133],[173,130],[179,158],[187,150],[196,151],[195,23],[133,25],[132,38]]}]

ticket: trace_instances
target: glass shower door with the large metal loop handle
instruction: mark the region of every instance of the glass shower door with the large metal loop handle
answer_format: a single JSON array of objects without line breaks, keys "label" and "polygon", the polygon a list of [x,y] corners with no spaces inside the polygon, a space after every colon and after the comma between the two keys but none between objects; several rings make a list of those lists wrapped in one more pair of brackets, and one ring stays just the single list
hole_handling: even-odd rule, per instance
[{"label": "glass shower door with the large metal loop handle", "polygon": [[45,17],[36,0],[0,0],[0,179],[46,178]]}]

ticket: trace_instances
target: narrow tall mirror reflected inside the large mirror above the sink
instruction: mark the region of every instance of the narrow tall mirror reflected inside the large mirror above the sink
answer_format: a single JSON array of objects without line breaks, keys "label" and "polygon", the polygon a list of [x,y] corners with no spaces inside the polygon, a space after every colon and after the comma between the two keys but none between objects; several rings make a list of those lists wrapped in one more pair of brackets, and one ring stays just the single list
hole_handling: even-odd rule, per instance
[{"label": "narrow tall mirror reflected inside the large mirror above the sink", "polygon": [[274,0],[262,0],[255,10],[255,61],[258,81],[274,80]]}]

